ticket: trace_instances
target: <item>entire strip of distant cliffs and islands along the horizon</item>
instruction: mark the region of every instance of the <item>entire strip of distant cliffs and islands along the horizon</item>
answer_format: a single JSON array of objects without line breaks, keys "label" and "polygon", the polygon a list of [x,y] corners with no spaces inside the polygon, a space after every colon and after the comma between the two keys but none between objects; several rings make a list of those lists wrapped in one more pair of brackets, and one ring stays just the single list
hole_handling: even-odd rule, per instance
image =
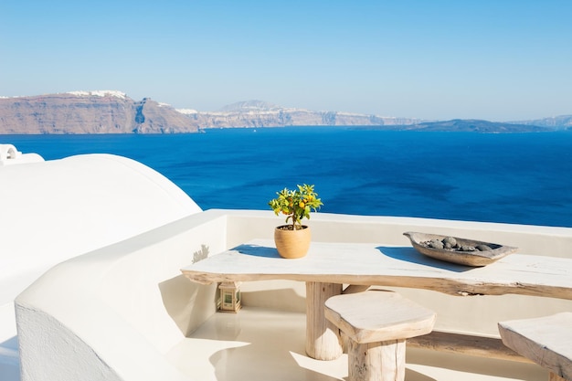
[{"label": "entire strip of distant cliffs and islands along the horizon", "polygon": [[354,126],[435,132],[549,132],[572,129],[572,115],[536,121],[421,121],[340,111],[310,111],[266,101],[240,101],[219,111],[177,110],[121,91],[71,91],[0,98],[0,134],[188,133],[212,128]]}]

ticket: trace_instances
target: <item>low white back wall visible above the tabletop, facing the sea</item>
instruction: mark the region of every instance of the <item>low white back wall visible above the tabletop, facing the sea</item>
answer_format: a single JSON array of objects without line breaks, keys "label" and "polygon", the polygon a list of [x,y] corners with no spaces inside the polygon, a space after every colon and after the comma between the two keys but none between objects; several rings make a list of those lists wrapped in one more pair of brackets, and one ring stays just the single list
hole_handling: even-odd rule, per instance
[{"label": "low white back wall visible above the tabletop, facing the sea", "polygon": [[[226,210],[230,247],[254,238],[272,238],[283,217],[263,210]],[[539,227],[433,218],[354,216],[314,213],[304,220],[312,240],[322,242],[372,242],[409,246],[403,233],[422,231],[468,237],[519,248],[520,254],[572,257],[572,228]]]}]

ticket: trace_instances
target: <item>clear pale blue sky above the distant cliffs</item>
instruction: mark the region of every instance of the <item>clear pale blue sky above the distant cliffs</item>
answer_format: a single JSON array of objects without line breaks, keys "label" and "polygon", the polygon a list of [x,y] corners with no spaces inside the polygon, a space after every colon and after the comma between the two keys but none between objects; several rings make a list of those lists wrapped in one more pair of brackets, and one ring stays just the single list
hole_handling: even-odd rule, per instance
[{"label": "clear pale blue sky above the distant cliffs", "polygon": [[572,1],[0,2],[0,96],[70,90],[198,111],[572,114]]}]

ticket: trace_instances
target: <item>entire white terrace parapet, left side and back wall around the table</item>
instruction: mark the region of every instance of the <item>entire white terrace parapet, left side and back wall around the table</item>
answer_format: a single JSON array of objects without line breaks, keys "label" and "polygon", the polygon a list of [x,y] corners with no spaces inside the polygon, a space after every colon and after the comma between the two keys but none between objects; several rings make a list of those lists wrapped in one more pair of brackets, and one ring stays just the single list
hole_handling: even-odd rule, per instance
[{"label": "entire white terrace parapet, left side and back wall around the table", "polygon": [[[168,352],[216,311],[216,285],[185,280],[180,269],[252,238],[271,238],[281,218],[270,211],[208,210],[49,270],[16,299],[22,379],[184,380]],[[316,214],[316,241],[408,246],[404,231],[503,243],[522,253],[567,256],[572,229]],[[542,250],[541,250],[542,249]],[[242,284],[245,306],[303,312],[304,286],[293,281]],[[454,297],[400,289],[438,312],[438,328],[496,335],[509,318],[572,311],[572,302],[521,296]]]}]

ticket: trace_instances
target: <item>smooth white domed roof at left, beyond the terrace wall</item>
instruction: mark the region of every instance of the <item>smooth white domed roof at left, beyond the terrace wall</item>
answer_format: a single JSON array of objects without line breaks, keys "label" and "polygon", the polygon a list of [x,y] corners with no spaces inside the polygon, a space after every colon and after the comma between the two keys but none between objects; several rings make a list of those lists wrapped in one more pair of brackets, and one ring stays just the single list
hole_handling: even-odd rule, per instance
[{"label": "smooth white domed roof at left, beyond the terrace wall", "polygon": [[131,159],[82,154],[19,160],[30,154],[8,158],[6,148],[5,163],[14,163],[0,165],[2,380],[17,373],[13,301],[19,292],[62,260],[201,211],[164,175]]}]

